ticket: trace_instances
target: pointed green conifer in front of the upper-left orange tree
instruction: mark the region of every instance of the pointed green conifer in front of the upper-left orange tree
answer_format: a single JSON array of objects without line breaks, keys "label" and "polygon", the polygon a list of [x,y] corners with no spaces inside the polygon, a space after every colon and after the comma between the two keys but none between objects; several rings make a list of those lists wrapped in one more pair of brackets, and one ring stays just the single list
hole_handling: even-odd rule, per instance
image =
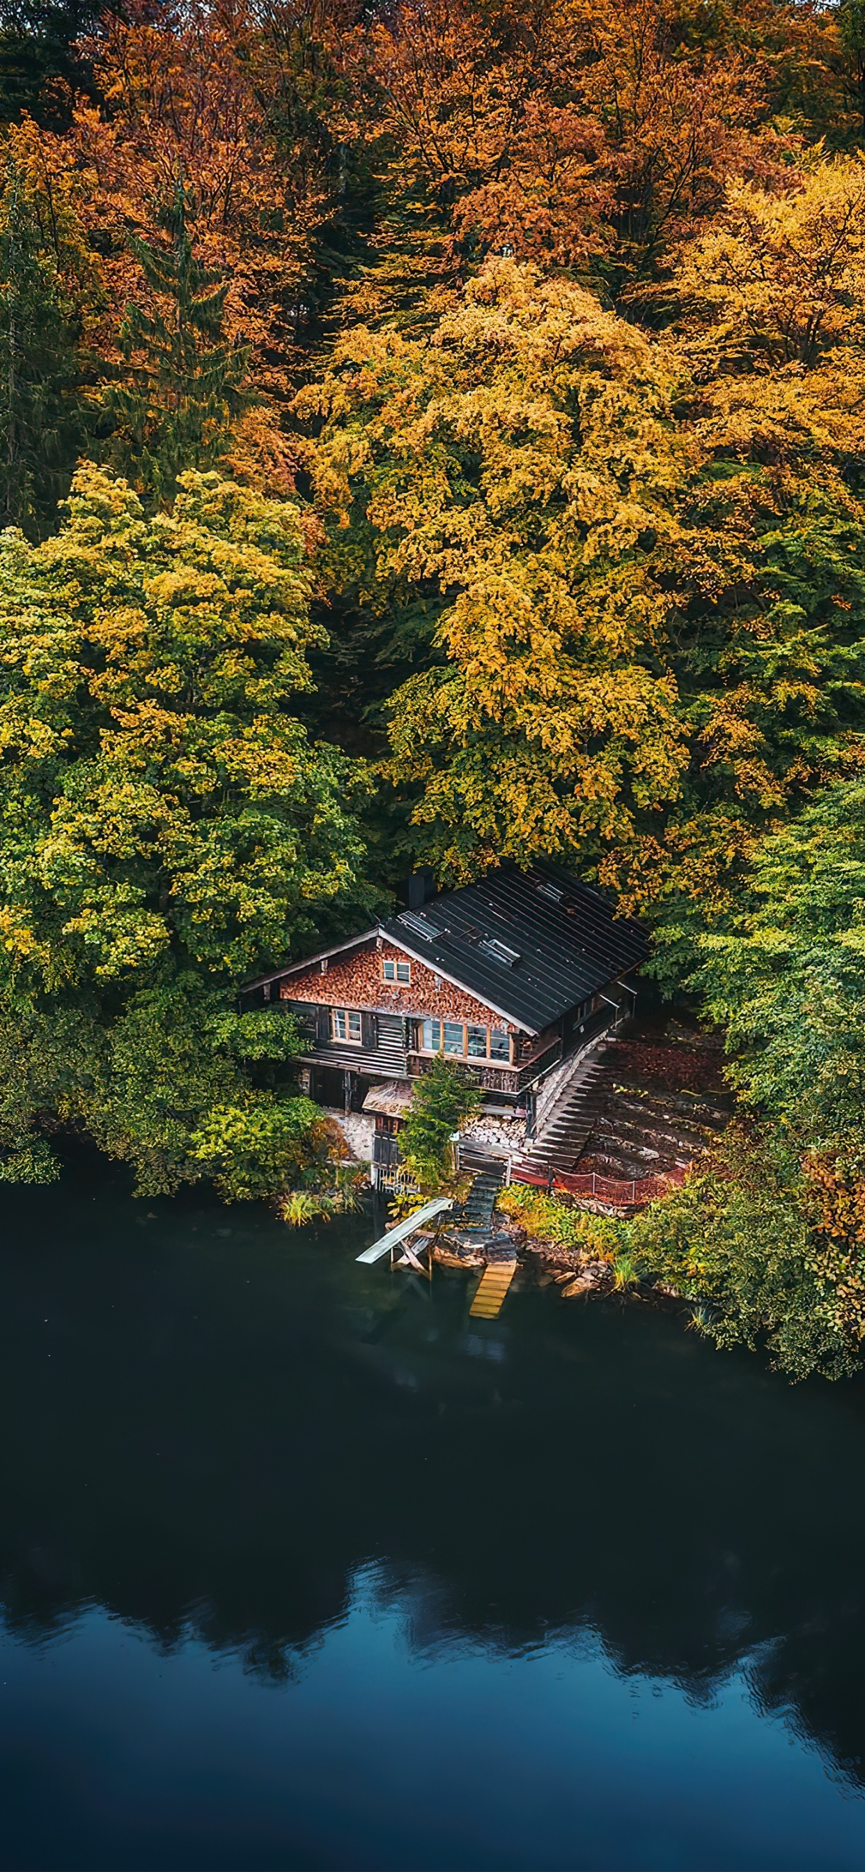
[{"label": "pointed green conifer in front of the upper-left orange tree", "polygon": [[236,416],[251,402],[249,352],[223,337],[228,283],[195,255],[183,187],[165,225],[170,247],[131,241],[150,305],[127,305],[124,365],[105,393],[114,421],[110,459],[157,504],[174,498],[183,470],[219,461]]}]

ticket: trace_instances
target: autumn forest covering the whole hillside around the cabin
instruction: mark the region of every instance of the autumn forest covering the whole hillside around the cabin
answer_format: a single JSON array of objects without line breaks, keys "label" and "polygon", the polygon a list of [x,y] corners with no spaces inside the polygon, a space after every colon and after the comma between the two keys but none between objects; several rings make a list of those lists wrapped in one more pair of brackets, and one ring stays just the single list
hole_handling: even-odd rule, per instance
[{"label": "autumn forest covering the whole hillside around the cabin", "polygon": [[0,110],[0,1177],[292,1189],[238,983],[545,854],[726,1035],[653,1275],[850,1370],[863,0],[19,0]]}]

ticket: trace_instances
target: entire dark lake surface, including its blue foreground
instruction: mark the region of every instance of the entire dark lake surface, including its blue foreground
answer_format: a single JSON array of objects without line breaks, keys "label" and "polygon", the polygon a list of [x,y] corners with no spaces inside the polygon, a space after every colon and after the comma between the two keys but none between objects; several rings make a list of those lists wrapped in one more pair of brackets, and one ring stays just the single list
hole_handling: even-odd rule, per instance
[{"label": "entire dark lake surface, including its blue foreground", "polygon": [[865,1387],[4,1191],[6,1868],[865,1863]]}]

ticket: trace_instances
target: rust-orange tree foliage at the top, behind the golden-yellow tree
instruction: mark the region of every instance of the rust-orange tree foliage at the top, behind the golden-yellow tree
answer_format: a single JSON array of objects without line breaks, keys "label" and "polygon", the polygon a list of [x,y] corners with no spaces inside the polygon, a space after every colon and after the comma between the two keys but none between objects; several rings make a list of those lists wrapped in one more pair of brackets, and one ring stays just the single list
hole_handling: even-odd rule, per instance
[{"label": "rust-orange tree foliage at the top, behind the golden-yellow tree", "polygon": [[646,303],[732,174],[783,185],[809,110],[846,118],[833,17],[766,0],[403,0],[345,60],[382,197],[365,322],[429,328],[491,253]]}]

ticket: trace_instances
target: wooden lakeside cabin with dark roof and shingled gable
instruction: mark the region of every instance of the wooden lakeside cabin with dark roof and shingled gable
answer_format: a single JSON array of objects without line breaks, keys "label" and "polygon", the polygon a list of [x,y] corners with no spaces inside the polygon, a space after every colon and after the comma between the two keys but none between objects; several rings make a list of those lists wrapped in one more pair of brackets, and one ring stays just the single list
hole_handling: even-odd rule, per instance
[{"label": "wooden lakeside cabin with dark roof and shingled gable", "polygon": [[438,1052],[472,1073],[487,1110],[532,1129],[545,1075],[631,1011],[627,977],[646,960],[646,936],[550,863],[502,865],[464,889],[416,897],[243,992],[279,998],[296,1016],[309,1095],[373,1112],[382,1136]]}]

